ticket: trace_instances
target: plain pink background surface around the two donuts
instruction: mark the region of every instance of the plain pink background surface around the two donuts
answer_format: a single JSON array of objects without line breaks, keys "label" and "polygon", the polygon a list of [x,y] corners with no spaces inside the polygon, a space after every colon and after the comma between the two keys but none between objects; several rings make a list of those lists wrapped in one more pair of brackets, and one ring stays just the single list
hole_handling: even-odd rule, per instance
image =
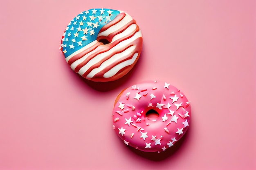
[{"label": "plain pink background surface around the two donuts", "polygon": [[[256,1],[145,2],[2,0],[0,170],[256,169]],[[102,7],[144,36],[135,68],[106,84],[81,79],[58,49],[72,18]],[[191,124],[172,150],[142,153],[115,135],[112,107],[157,79],[191,101]]]}]

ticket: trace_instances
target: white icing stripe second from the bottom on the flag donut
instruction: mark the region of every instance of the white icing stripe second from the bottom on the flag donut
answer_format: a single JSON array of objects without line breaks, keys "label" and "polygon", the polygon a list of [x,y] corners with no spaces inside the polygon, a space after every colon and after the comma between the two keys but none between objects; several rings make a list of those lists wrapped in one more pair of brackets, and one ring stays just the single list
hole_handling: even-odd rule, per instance
[{"label": "white icing stripe second from the bottom on the flag donut", "polygon": [[115,54],[113,55],[110,59],[106,60],[105,62],[103,62],[101,64],[101,66],[99,66],[98,68],[94,68],[88,75],[86,78],[92,78],[94,77],[94,75],[96,75],[97,73],[101,72],[102,70],[104,70],[106,67],[110,66],[111,64],[117,62],[117,60],[120,60],[122,57],[132,54],[133,51],[135,50],[136,46],[130,46],[128,49],[126,49],[125,51]]}]

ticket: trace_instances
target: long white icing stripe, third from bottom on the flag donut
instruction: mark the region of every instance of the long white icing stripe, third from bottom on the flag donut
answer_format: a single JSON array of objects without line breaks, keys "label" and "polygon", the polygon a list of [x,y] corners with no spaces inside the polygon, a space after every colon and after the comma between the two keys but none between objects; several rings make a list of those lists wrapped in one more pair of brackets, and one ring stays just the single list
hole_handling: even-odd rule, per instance
[{"label": "long white icing stripe, third from bottom on the flag donut", "polygon": [[85,64],[85,66],[83,66],[78,73],[80,75],[83,75],[85,71],[87,71],[94,64],[97,64],[99,61],[103,60],[103,58],[106,57],[107,55],[115,53],[115,51],[121,51],[122,49],[125,49],[127,47],[127,44],[130,44],[131,42],[135,41],[138,37],[140,37],[140,35],[141,35],[141,32],[138,31],[131,38],[120,42],[119,44],[112,47],[110,50],[106,51],[105,53],[100,53],[99,55],[95,56],[94,58],[92,58],[92,60],[90,60],[87,64]]}]

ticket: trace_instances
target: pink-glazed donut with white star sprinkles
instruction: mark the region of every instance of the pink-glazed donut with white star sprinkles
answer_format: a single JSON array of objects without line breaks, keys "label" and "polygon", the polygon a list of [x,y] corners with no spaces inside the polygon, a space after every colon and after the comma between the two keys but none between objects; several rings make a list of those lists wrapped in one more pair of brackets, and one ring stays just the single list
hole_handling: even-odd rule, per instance
[{"label": "pink-glazed donut with white star sprinkles", "polygon": [[145,152],[171,148],[188,130],[190,116],[185,95],[162,81],[126,88],[112,112],[113,129],[124,144]]}]

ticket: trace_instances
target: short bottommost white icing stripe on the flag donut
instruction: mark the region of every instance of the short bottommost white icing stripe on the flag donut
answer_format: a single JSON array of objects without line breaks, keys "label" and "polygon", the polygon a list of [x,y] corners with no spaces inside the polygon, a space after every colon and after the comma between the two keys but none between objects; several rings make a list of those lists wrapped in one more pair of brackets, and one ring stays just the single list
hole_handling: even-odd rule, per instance
[{"label": "short bottommost white icing stripe on the flag donut", "polygon": [[132,63],[135,62],[137,56],[138,56],[138,53],[135,53],[135,54],[133,55],[132,59],[126,60],[125,62],[122,62],[122,63],[116,65],[115,67],[111,68],[108,72],[106,72],[106,73],[103,75],[103,77],[104,77],[104,78],[112,77],[112,76],[114,76],[115,74],[117,74],[117,72],[118,72],[119,70],[121,70],[122,68],[124,68],[125,66],[130,66],[130,65],[132,65]]}]

